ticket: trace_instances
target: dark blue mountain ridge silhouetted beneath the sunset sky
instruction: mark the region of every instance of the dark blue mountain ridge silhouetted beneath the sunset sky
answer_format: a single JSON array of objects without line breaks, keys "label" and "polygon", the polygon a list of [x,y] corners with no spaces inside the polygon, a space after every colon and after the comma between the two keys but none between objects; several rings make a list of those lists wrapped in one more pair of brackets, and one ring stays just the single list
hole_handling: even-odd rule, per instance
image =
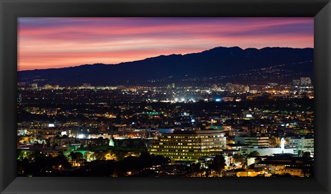
[{"label": "dark blue mountain ridge silhouetted beneath the sunset sky", "polygon": [[285,65],[283,68],[293,74],[313,76],[313,59],[312,48],[265,47],[243,50],[240,47],[215,47],[198,53],[161,55],[117,65],[95,63],[59,69],[27,70],[18,72],[18,76],[19,82],[27,83],[113,85],[162,78],[179,81],[182,78],[231,76],[275,65]]}]

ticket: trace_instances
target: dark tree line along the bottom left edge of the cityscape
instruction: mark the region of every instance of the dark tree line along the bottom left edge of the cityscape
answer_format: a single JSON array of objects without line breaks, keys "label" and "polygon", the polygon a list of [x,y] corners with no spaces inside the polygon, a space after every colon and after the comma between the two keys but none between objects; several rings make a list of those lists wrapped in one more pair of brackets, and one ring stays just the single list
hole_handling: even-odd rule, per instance
[{"label": "dark tree line along the bottom left edge of the cityscape", "polygon": [[[81,159],[81,153],[71,153],[72,160]],[[85,166],[73,169],[65,155],[57,157],[39,157],[34,162],[27,159],[18,160],[19,176],[125,176],[129,171],[140,172],[154,165],[170,163],[169,158],[162,155],[150,155],[147,151],[139,157],[129,156],[120,161],[94,160]],[[50,173],[51,171],[51,173]]]}]

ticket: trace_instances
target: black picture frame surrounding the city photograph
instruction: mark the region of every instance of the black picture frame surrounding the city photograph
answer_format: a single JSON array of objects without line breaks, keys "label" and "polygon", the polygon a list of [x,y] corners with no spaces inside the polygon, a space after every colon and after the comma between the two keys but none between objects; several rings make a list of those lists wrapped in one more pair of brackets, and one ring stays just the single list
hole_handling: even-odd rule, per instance
[{"label": "black picture frame surrounding the city photograph", "polygon": [[[330,193],[330,1],[0,0],[0,6],[1,193]],[[314,17],[314,177],[16,177],[17,17]]]}]

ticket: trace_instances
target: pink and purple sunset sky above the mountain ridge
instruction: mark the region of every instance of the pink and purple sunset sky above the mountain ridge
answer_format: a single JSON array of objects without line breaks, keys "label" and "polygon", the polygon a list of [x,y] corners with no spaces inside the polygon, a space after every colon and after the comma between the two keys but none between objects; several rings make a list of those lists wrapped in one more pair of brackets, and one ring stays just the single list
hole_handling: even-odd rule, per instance
[{"label": "pink and purple sunset sky above the mountain ridge", "polygon": [[117,64],[213,47],[314,47],[313,18],[19,18],[18,70]]}]

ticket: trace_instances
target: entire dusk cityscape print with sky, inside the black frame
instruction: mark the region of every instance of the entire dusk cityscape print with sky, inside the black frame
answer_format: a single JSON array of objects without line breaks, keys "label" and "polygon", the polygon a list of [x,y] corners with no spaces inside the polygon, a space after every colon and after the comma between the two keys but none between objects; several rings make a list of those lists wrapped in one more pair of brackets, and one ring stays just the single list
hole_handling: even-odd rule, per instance
[{"label": "entire dusk cityscape print with sky, inside the black frame", "polygon": [[[77,21],[84,20],[74,22]],[[93,19],[86,19],[83,25],[91,21]],[[161,29],[162,32],[155,33],[161,34],[162,39],[163,36],[175,34],[172,30],[183,23],[189,23],[179,19],[177,27],[171,28],[168,23],[174,22],[171,19],[159,19],[161,24],[155,24],[155,21],[141,19],[139,25],[146,25],[148,30],[152,29],[150,26],[166,26],[171,33],[167,30],[163,32],[165,28],[155,28]],[[314,176],[312,20],[279,19],[273,21],[275,26],[270,27],[261,24],[268,23],[268,19],[233,19],[237,24],[266,26],[268,30],[262,30],[264,34],[287,41],[279,41],[278,45],[277,41],[257,39],[256,42],[261,41],[264,46],[239,47],[234,46],[239,43],[224,43],[226,47],[210,46],[189,52],[160,49],[164,53],[156,54],[153,50],[151,56],[145,56],[145,53],[137,52],[141,57],[132,60],[121,58],[122,55],[128,56],[124,53],[118,58],[119,61],[114,59],[112,64],[95,63],[104,59],[95,58],[103,57],[103,53],[97,55],[91,50],[88,51],[91,56],[78,54],[77,58],[73,58],[76,56],[72,51],[63,51],[63,56],[60,56],[61,49],[57,50],[57,43],[52,45],[50,40],[63,41],[62,45],[68,43],[68,47],[72,43],[67,38],[62,39],[61,30],[57,32],[59,36],[50,34],[51,38],[37,33],[50,33],[47,30],[52,25],[66,30],[66,25],[70,25],[72,30],[72,22],[72,19],[55,18],[45,21],[23,18],[19,22],[19,36],[22,39],[19,42],[21,59],[17,83],[18,176]],[[128,22],[125,27],[116,19],[99,19],[99,22],[101,31],[106,22],[123,29],[129,25],[136,28],[130,19],[121,21]],[[199,22],[197,19],[197,24],[192,24],[194,29]],[[215,20],[202,19],[201,23],[215,25]],[[228,25],[228,22],[217,25]],[[95,32],[99,32],[99,28],[94,27]],[[31,32],[34,28],[36,32]],[[79,24],[74,24],[74,28],[81,30]],[[286,32],[290,35],[282,30],[268,34],[270,29],[278,28],[288,30]],[[118,36],[129,39],[130,29],[123,29],[119,31],[128,34]],[[99,40],[86,33],[81,36]],[[156,36],[150,34],[132,36],[139,36],[138,42],[141,44],[142,36],[146,39]],[[289,42],[293,34],[301,39]],[[256,39],[255,36],[252,35],[252,40]],[[197,42],[200,39],[197,38]],[[238,35],[236,39],[241,40],[241,37]],[[249,38],[244,36],[242,39]],[[77,38],[79,43],[82,40],[87,45],[91,44],[91,48],[101,47],[80,36]],[[40,55],[28,52],[31,47],[39,47],[38,44],[43,41],[50,45],[45,51],[33,51]],[[34,42],[36,45],[28,44]],[[123,42],[126,45],[130,41]],[[133,38],[131,42],[134,42]],[[307,45],[301,45],[305,42]],[[161,44],[167,45],[165,42]],[[178,44],[183,45],[182,42]],[[83,52],[81,48],[77,50]],[[182,54],[174,54],[177,52]],[[72,56],[69,58],[67,54]],[[134,56],[133,52],[131,55]],[[78,58],[89,63],[86,58],[90,57],[94,64],[79,65],[83,62],[74,67],[61,66],[61,59],[55,61],[59,64],[57,66],[52,57],[65,58],[70,64]],[[50,65],[40,65],[48,60]]]}]

